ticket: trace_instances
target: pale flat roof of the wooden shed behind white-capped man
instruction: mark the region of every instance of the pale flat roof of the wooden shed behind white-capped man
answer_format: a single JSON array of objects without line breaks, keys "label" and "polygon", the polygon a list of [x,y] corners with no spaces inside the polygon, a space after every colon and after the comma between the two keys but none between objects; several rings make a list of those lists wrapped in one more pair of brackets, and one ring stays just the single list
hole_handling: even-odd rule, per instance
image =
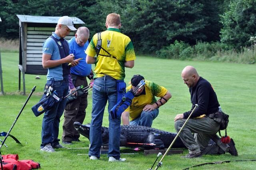
[{"label": "pale flat roof of the wooden shed behind white-capped man", "polygon": [[[33,23],[52,23],[57,24],[61,16],[32,16],[32,15],[16,15],[21,22],[33,22]],[[77,17],[70,16],[74,24],[85,24]]]}]

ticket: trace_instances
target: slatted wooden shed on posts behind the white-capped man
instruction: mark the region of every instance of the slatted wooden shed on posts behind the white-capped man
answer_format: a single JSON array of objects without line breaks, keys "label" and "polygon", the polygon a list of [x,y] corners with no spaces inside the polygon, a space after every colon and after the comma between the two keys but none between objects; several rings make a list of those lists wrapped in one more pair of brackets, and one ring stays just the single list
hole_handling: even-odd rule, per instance
[{"label": "slatted wooden shed on posts behind the white-capped man", "polygon": [[[19,90],[21,72],[23,77],[23,93],[25,91],[25,74],[46,75],[47,69],[42,67],[42,45],[55,31],[56,24],[61,16],[31,16],[17,15],[20,26],[20,57],[19,57]],[[73,19],[74,27],[85,24],[76,17]],[[65,37],[70,40],[74,32]]]}]

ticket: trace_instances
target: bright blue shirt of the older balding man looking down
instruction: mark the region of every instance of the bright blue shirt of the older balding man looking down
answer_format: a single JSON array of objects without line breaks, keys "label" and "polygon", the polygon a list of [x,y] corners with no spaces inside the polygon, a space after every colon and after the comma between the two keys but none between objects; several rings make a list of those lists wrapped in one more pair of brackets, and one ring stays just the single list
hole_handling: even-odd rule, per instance
[{"label": "bright blue shirt of the older balding man looking down", "polygon": [[79,46],[76,43],[76,37],[73,37],[71,40],[68,41],[68,43],[69,43],[69,49],[70,49],[69,53],[70,54],[73,53],[75,56],[75,59],[83,58],[82,60],[79,61],[79,64],[70,68],[70,73],[78,75],[78,76],[82,76],[82,77],[88,76],[92,69],[92,64],[86,63],[85,50],[86,50],[89,42],[87,41],[84,44],[84,46]]}]

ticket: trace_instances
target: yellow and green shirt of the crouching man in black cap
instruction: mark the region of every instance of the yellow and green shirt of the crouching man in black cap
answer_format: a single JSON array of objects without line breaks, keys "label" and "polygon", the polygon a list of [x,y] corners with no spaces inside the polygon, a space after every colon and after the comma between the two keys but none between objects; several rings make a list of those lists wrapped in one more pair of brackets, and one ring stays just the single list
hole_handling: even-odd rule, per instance
[{"label": "yellow and green shirt of the crouching man in black cap", "polygon": [[[145,81],[146,84],[144,86],[146,94],[141,94],[140,96],[134,97],[132,99],[132,104],[125,110],[126,112],[130,112],[130,121],[134,120],[138,116],[140,116],[143,108],[147,104],[153,104],[156,102],[156,97],[163,97],[167,93],[167,89],[163,86],[159,86],[153,82]],[[129,91],[132,88],[132,85],[126,88]]]}]

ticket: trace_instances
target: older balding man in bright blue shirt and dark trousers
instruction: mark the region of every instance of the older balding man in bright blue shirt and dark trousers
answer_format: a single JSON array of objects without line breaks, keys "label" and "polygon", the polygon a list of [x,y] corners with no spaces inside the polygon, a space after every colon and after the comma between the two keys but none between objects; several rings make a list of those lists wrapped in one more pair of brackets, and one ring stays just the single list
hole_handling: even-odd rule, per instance
[{"label": "older balding man in bright blue shirt and dark trousers", "polygon": [[[75,36],[68,41],[70,47],[70,54],[74,54],[75,59],[82,58],[79,64],[75,67],[70,68],[70,75],[72,83],[75,87],[83,85],[88,86],[86,76],[89,76],[92,70],[92,65],[86,63],[85,50],[89,44],[90,32],[86,27],[80,27],[77,29]],[[71,84],[70,89],[73,89]],[[80,134],[74,128],[74,122],[84,122],[86,115],[85,109],[87,108],[87,94],[78,96],[75,100],[66,105],[64,111],[64,122],[62,125],[62,143],[72,144],[72,141],[79,141]]]}]

